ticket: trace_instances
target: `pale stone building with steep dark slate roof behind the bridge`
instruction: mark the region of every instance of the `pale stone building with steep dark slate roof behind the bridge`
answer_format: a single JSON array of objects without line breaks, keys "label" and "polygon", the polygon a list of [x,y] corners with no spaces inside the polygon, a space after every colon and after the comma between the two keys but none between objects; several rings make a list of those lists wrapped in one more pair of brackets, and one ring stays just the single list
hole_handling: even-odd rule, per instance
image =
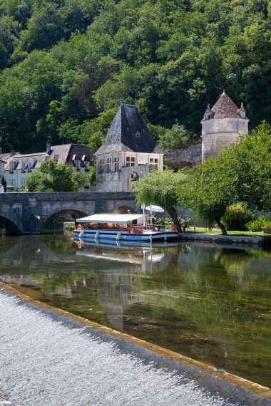
[{"label": "pale stone building with steep dark slate roof behind the bridge", "polygon": [[103,145],[95,153],[98,192],[128,192],[133,182],[163,170],[163,152],[156,146],[136,105],[121,104]]}]

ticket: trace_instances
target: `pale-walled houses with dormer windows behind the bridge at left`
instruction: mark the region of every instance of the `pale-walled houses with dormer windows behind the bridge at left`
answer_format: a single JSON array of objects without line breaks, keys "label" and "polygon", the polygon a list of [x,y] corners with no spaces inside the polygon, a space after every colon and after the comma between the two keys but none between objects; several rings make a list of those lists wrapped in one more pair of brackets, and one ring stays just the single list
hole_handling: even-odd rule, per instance
[{"label": "pale-walled houses with dormer windows behind the bridge at left", "polygon": [[[85,173],[90,170],[92,156],[90,147],[86,145],[64,144],[51,146],[47,142],[46,152],[21,154],[20,152],[11,151],[0,154],[0,160],[5,160],[4,177],[7,184],[14,189],[21,189],[26,186],[26,179],[31,175],[31,172],[38,169],[42,162],[54,160],[65,165],[72,165],[75,170]],[[86,187],[88,188],[87,183]]]}]

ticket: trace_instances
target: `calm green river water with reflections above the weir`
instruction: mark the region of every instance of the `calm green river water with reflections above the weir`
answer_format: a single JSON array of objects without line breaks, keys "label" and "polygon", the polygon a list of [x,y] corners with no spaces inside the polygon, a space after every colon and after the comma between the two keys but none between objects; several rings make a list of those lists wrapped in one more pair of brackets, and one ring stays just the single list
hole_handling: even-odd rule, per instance
[{"label": "calm green river water with reflections above the weir", "polygon": [[80,316],[271,384],[271,252],[0,240],[0,280]]}]

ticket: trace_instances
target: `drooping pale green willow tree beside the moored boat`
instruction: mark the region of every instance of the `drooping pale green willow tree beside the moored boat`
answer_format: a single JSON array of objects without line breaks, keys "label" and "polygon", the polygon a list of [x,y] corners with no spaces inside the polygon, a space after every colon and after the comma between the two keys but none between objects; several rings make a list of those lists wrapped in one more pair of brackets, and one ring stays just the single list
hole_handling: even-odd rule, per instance
[{"label": "drooping pale green willow tree beside the moored boat", "polygon": [[139,204],[158,204],[163,207],[173,220],[173,224],[178,227],[178,231],[182,231],[182,228],[177,214],[177,190],[182,179],[181,172],[152,170],[150,174],[136,182],[135,189],[136,201]]}]

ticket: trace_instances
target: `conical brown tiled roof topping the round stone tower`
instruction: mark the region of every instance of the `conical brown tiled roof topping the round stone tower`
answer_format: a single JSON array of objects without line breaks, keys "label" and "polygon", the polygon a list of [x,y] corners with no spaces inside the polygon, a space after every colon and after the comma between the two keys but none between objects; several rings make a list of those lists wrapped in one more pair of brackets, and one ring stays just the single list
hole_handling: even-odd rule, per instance
[{"label": "conical brown tiled roof topping the round stone tower", "polygon": [[[209,113],[208,110],[206,110],[205,115],[203,120],[208,120],[208,116],[206,113]],[[212,115],[210,118],[245,118],[245,108],[243,105],[241,105],[241,108],[238,109],[237,105],[232,101],[231,98],[225,93],[225,90],[223,90],[222,95],[220,95],[220,98],[218,101],[213,105],[213,108],[211,108],[211,113]]]}]

